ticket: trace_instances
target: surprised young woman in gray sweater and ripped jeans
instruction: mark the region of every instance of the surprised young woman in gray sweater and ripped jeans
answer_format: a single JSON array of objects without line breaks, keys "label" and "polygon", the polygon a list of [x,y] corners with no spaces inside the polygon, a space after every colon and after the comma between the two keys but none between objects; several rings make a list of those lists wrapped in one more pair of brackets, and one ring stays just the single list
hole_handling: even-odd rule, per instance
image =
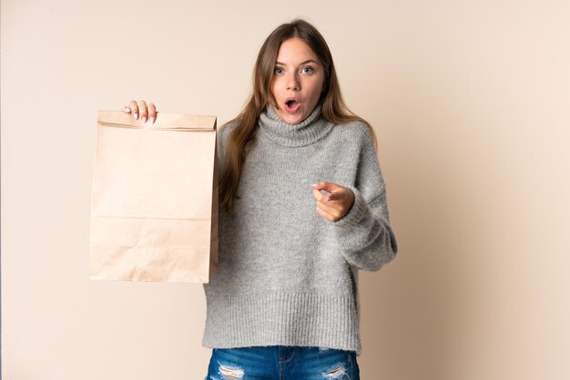
[{"label": "surprised young woman in gray sweater and ripped jeans", "polygon": [[[219,133],[219,269],[204,285],[208,379],[358,379],[357,275],[396,255],[368,123],[309,23],[261,46],[253,94]],[[156,107],[124,111],[154,122]]]}]

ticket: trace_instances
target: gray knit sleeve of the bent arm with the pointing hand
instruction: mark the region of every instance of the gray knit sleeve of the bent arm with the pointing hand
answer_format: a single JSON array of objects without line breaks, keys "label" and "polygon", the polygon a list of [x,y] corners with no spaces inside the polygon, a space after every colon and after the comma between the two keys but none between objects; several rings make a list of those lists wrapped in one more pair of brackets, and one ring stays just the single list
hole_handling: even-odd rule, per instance
[{"label": "gray knit sleeve of the bent arm with the pointing hand", "polygon": [[354,185],[354,204],[334,225],[346,261],[359,269],[376,271],[392,261],[398,251],[390,225],[386,188],[372,136],[361,137],[361,152]]}]

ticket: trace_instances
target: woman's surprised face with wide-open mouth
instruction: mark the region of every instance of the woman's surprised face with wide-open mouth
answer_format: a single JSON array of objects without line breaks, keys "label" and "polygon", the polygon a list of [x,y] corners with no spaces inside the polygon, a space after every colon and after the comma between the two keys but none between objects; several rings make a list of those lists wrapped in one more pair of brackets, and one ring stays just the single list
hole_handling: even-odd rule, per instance
[{"label": "woman's surprised face with wide-open mouth", "polygon": [[319,103],[324,68],[309,45],[290,38],[280,45],[271,82],[277,115],[288,124],[299,124]]}]

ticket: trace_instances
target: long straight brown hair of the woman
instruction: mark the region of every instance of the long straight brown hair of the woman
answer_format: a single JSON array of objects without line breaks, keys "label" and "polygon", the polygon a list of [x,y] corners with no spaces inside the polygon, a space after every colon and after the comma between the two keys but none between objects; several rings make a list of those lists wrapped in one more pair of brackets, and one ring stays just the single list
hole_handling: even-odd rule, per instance
[{"label": "long straight brown hair of the woman", "polygon": [[[275,62],[280,45],[290,38],[300,38],[317,55],[325,72],[325,81],[320,102],[322,117],[334,124],[346,124],[360,120],[368,125],[374,144],[376,142],[372,126],[361,117],[351,113],[342,100],[341,87],[332,62],[331,50],[321,33],[304,20],[294,20],[289,24],[278,26],[265,40],[260,48],[253,68],[253,92],[239,115],[229,124],[235,128],[224,146],[224,161],[219,176],[220,205],[229,212],[233,211],[233,202],[237,196],[239,178],[245,164],[249,149],[255,141],[255,129],[261,112],[267,105],[275,105],[271,94],[271,81],[275,72]],[[225,125],[224,125],[225,126]]]}]

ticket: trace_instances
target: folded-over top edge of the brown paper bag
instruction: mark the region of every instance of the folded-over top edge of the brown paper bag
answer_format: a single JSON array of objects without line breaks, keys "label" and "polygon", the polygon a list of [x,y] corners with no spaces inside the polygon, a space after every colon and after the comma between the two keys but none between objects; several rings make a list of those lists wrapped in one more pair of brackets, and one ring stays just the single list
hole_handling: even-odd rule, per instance
[{"label": "folded-over top edge of the brown paper bag", "polygon": [[158,114],[154,124],[143,123],[123,111],[98,111],[97,123],[127,128],[146,128],[164,131],[213,131],[216,116]]}]

